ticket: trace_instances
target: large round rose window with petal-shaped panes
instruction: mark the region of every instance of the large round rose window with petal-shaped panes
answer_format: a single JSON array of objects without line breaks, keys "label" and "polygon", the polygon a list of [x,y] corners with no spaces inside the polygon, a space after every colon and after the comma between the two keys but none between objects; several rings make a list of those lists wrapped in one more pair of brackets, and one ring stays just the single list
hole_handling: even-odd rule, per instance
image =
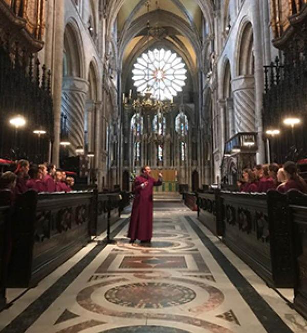
[{"label": "large round rose window with petal-shaped panes", "polygon": [[182,59],[163,48],[143,53],[132,72],[137,91],[145,93],[146,88],[150,87],[152,96],[160,100],[177,96],[187,78]]}]

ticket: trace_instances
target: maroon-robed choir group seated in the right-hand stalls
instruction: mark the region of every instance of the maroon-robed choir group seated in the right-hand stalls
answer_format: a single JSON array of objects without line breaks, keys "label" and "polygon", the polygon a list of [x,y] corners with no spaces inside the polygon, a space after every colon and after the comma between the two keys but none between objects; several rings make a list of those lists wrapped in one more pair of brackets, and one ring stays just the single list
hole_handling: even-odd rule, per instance
[{"label": "maroon-robed choir group seated in the right-hand stalls", "polygon": [[307,184],[298,174],[296,163],[290,161],[284,163],[282,168],[273,163],[244,169],[243,179],[237,185],[242,192],[267,192],[276,189],[284,193],[295,189],[307,193]]}]

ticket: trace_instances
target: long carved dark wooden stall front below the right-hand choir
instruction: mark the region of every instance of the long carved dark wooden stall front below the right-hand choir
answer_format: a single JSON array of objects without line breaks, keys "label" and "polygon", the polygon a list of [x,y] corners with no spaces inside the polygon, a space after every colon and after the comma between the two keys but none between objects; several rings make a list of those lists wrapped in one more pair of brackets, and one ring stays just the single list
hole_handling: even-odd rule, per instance
[{"label": "long carved dark wooden stall front below the right-hand choir", "polygon": [[[215,191],[198,193],[199,220],[270,286],[293,286],[287,197]],[[214,210],[213,207],[216,207]]]}]

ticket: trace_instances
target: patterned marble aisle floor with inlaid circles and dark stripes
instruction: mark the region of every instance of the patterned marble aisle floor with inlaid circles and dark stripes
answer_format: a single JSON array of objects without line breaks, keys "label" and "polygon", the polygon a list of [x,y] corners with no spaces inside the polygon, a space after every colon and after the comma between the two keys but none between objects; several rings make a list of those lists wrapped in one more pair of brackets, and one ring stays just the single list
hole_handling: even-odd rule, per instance
[{"label": "patterned marble aisle floor with inlaid circles and dark stripes", "polygon": [[0,313],[1,333],[307,332],[307,322],[181,203],[155,203],[151,244],[89,244]]}]

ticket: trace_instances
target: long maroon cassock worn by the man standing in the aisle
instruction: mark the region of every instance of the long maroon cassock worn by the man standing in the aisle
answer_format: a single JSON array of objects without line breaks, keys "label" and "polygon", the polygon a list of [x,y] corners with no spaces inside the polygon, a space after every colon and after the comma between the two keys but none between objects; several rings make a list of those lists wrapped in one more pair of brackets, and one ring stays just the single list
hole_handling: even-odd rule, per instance
[{"label": "long maroon cassock worn by the man standing in the aisle", "polygon": [[[142,189],[141,184],[148,181]],[[131,240],[150,241],[152,238],[152,188],[162,185],[161,179],[154,179],[150,176],[141,175],[135,179],[135,199],[132,206],[128,238]]]}]

